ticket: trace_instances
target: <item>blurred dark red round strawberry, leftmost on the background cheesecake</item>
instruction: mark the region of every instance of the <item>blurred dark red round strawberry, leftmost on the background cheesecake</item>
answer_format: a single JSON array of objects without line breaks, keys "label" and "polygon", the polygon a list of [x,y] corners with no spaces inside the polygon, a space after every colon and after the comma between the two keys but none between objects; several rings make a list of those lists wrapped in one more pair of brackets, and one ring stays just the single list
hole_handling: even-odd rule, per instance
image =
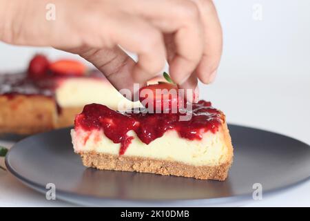
[{"label": "blurred dark red round strawberry, leftmost on the background cheesecake", "polygon": [[36,55],[30,61],[28,76],[32,79],[39,79],[46,75],[50,62],[44,55]]}]

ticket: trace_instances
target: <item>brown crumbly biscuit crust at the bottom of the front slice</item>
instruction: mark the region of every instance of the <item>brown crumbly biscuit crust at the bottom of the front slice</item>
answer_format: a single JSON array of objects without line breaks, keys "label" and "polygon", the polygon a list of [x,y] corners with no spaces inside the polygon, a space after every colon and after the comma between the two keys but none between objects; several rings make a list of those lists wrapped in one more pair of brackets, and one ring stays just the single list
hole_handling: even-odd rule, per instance
[{"label": "brown crumbly biscuit crust at the bottom of the front slice", "polygon": [[231,160],[218,166],[192,166],[182,162],[156,160],[147,157],[132,157],[85,151],[79,153],[84,166],[101,170],[136,171],[140,173],[156,173],[194,177],[200,180],[220,180],[227,178]]}]

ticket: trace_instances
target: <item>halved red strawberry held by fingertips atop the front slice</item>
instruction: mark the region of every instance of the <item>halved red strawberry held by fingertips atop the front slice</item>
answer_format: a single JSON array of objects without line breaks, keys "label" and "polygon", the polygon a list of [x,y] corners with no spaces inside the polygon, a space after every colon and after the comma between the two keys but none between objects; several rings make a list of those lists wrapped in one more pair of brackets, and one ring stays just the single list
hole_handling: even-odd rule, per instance
[{"label": "halved red strawberry held by fingertips atop the front slice", "polygon": [[139,100],[149,111],[154,110],[154,113],[156,111],[178,110],[180,105],[185,103],[184,98],[179,95],[178,86],[165,82],[141,88]]}]

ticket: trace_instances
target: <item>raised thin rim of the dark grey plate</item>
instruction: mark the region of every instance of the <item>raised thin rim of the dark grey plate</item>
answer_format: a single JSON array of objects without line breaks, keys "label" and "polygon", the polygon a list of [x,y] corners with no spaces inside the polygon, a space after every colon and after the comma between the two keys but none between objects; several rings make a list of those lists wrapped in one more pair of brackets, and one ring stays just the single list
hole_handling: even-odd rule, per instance
[{"label": "raised thin rim of the dark grey plate", "polygon": [[[255,129],[258,131],[262,131],[262,132],[268,132],[268,133],[273,133],[274,135],[280,135],[282,137],[287,137],[289,139],[295,140],[296,142],[300,142],[301,144],[304,144],[305,146],[308,146],[308,148],[310,148],[310,145],[302,142],[300,140],[297,140],[296,138],[293,137],[289,137],[287,135],[283,135],[281,133],[276,133],[273,131],[268,131],[268,130],[264,130],[261,128],[254,128],[251,126],[242,126],[240,124],[228,124],[228,128],[229,126],[237,126],[237,127],[242,127],[242,128],[249,128],[249,129]],[[21,142],[25,142],[28,139],[30,139],[31,137],[36,137],[36,136],[40,136],[43,134],[47,134],[50,132],[54,132],[54,131],[67,131],[70,130],[72,128],[72,126],[67,127],[67,128],[59,128],[56,130],[52,130],[52,131],[47,131],[47,132],[43,132],[43,133],[37,133],[35,135],[31,135],[29,137],[25,137],[22,140],[20,140],[19,142],[15,143],[10,150],[8,151],[8,153],[6,154],[5,157],[5,164],[6,164],[6,168],[8,169],[8,171],[17,178],[17,180],[19,180],[19,182],[23,183],[25,186],[30,187],[31,189],[33,189],[34,191],[37,191],[39,193],[46,193],[45,186],[34,182],[30,179],[28,179],[27,177],[24,177],[23,175],[20,175],[14,168],[13,166],[10,165],[10,153],[11,150],[13,148],[18,148],[18,144],[20,144]],[[132,172],[128,172],[128,173],[132,173]],[[302,180],[298,180],[298,182],[293,182],[292,184],[287,184],[285,186],[280,186],[280,187],[276,187],[273,189],[269,189],[267,191],[264,191],[263,195],[268,197],[270,195],[279,193],[281,191],[285,191],[287,189],[291,189],[293,187],[299,186],[300,184],[303,184],[307,181],[310,180],[310,174],[307,177],[304,177]],[[113,202],[113,203],[126,203],[126,204],[137,204],[137,203],[141,203],[141,204],[172,204],[172,206],[175,204],[180,204],[180,203],[190,203],[190,204],[200,204],[203,202],[203,204],[205,205],[209,205],[209,204],[223,204],[223,203],[229,203],[229,202],[237,202],[237,201],[241,201],[241,200],[251,200],[252,199],[252,193],[243,193],[240,195],[233,195],[233,196],[227,196],[227,197],[216,197],[216,198],[198,198],[198,199],[177,199],[177,200],[170,200],[170,199],[166,199],[166,200],[161,200],[161,199],[152,199],[152,200],[145,200],[145,199],[133,199],[133,200],[125,200],[125,199],[116,199],[116,198],[101,198],[101,197],[96,197],[96,196],[92,196],[92,195],[87,195],[87,194],[81,194],[81,193],[74,193],[72,191],[63,191],[63,190],[56,190],[56,198],[59,198],[60,200],[63,200],[65,202],[71,202],[74,204],[80,204],[80,205],[87,205],[87,203],[83,204],[83,203],[79,203],[79,200],[72,200],[72,198],[83,198],[86,201],[87,200],[96,200],[96,201],[100,201],[100,202]],[[86,202],[85,201],[85,202]]]}]

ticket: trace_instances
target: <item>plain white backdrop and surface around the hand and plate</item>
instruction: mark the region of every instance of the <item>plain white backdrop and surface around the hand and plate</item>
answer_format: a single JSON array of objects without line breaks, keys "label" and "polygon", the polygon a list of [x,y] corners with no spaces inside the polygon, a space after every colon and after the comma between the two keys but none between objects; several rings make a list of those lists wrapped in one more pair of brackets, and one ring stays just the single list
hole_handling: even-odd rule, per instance
[{"label": "plain white backdrop and surface around the hand and plate", "polygon": [[[261,21],[253,18],[256,4],[262,7]],[[222,109],[231,123],[310,144],[310,1],[221,0],[216,6],[224,32],[223,59],[216,82],[200,85],[200,97]],[[0,43],[0,72],[22,70],[37,51],[68,57],[51,48]],[[1,205],[69,204],[48,202],[0,171]],[[310,206],[310,182],[245,206]]]}]

